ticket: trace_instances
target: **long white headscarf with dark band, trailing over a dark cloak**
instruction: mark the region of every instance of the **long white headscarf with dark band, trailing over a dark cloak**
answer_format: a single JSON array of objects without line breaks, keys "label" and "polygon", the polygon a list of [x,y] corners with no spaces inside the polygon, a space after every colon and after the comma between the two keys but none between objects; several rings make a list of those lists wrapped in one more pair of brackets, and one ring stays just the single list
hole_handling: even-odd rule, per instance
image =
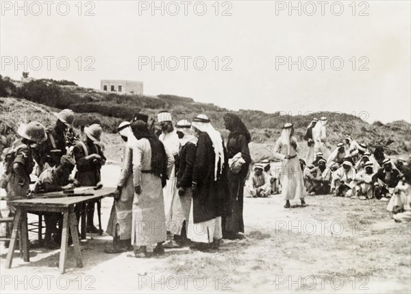
[{"label": "long white headscarf with dark band, trailing over a dark cloak", "polygon": [[191,123],[192,127],[195,127],[201,132],[206,132],[212,141],[212,147],[214,148],[214,153],[216,154],[214,160],[214,181],[217,180],[217,171],[219,168],[220,160],[220,173],[223,173],[224,164],[224,148],[223,148],[223,138],[219,131],[215,130],[210,123],[210,119],[206,114],[199,114]]}]

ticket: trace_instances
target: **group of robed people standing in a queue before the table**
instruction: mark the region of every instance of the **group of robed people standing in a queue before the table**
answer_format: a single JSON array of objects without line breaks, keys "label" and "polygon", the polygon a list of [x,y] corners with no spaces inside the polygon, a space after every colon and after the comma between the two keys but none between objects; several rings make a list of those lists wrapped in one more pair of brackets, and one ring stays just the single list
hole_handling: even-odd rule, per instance
[{"label": "group of robed people standing in a queue before the table", "polygon": [[242,121],[225,114],[225,147],[205,114],[173,125],[171,113],[162,111],[159,136],[147,120],[138,114],[118,127],[125,141],[123,167],[108,224],[114,246],[105,252],[133,247],[136,257],[145,257],[153,244],[153,254],[164,254],[164,247],[218,249],[221,238],[241,238],[251,162],[251,136]]}]

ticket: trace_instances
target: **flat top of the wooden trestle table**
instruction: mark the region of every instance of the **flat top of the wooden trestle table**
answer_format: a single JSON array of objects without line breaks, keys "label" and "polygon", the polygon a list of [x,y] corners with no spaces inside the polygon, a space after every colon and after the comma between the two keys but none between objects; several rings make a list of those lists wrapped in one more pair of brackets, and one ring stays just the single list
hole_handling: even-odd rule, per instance
[{"label": "flat top of the wooden trestle table", "polygon": [[[73,204],[79,204],[84,201],[89,201],[92,199],[97,199],[100,197],[111,196],[116,188],[104,187],[99,190],[94,190],[93,187],[80,187],[75,188],[74,193],[92,193],[92,196],[70,196],[70,194],[64,194],[60,192],[51,192],[44,194],[33,195],[31,199],[20,199],[10,201],[12,206],[27,206],[27,207],[38,207],[38,206],[53,206],[53,207],[69,207]],[[58,197],[60,196],[61,197]],[[51,196],[53,198],[40,198],[45,196]],[[37,198],[36,198],[37,197]]]}]

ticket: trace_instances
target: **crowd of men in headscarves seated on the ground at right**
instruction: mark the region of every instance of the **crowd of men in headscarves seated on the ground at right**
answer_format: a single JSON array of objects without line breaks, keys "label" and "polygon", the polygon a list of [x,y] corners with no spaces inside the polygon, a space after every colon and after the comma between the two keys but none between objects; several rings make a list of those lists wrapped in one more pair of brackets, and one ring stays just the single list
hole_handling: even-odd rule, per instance
[{"label": "crowd of men in headscarves seated on the ground at right", "polygon": [[[306,164],[300,159],[309,195],[390,201],[387,210],[394,213],[396,220],[411,219],[410,161],[395,163],[381,146],[371,154],[365,144],[356,143],[350,136],[345,138],[345,144],[338,143],[328,158],[317,152],[313,162]],[[253,197],[267,197],[276,191],[270,183],[278,186],[279,179],[271,175],[271,167],[260,162],[253,167],[246,191]]]}]

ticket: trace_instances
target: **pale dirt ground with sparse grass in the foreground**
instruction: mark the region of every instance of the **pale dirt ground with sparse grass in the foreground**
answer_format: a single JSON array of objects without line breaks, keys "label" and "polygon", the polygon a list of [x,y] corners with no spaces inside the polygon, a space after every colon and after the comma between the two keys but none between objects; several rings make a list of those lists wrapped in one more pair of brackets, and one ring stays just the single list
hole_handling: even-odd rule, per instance
[{"label": "pale dirt ground with sparse grass in the foreground", "polygon": [[[105,186],[115,185],[118,171],[105,167]],[[112,201],[102,201],[104,227]],[[32,249],[31,262],[16,250],[12,269],[5,269],[1,244],[1,293],[410,293],[409,223],[395,223],[381,201],[331,195],[306,201],[306,208],[295,199],[286,209],[280,195],[245,198],[247,238],[224,240],[214,252],[184,247],[138,259],[132,252],[105,254],[112,238],[89,235],[82,241],[84,267],[75,267],[69,247],[64,275],[56,267],[60,250]]]}]

